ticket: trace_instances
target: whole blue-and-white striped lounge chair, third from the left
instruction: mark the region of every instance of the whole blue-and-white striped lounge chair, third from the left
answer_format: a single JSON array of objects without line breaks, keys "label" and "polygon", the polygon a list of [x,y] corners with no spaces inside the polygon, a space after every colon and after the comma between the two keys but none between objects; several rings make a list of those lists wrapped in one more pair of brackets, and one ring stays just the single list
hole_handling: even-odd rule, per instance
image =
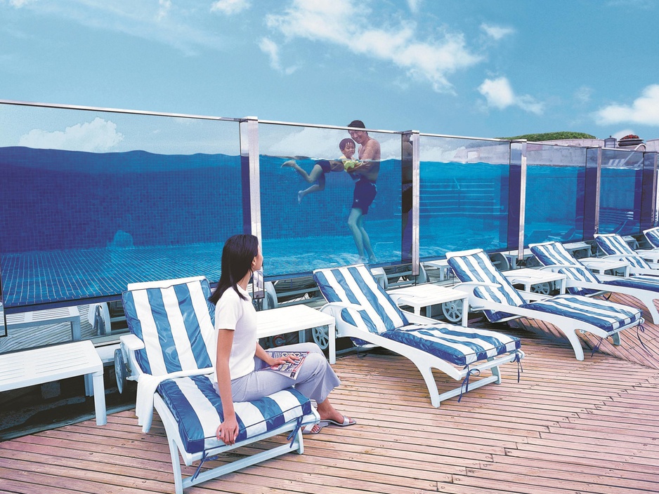
[{"label": "whole blue-and-white striped lounge chair, third from the left", "polygon": [[490,258],[482,249],[449,252],[446,257],[455,276],[462,281],[455,288],[469,293],[472,309],[483,310],[490,322],[528,317],[552,323],[566,336],[577,360],[584,359],[577,331],[592,333],[600,338],[611,336],[613,344],[620,345],[620,331],[644,322],[639,309],[625,305],[580,295],[549,297],[517,291],[492,266]]}]

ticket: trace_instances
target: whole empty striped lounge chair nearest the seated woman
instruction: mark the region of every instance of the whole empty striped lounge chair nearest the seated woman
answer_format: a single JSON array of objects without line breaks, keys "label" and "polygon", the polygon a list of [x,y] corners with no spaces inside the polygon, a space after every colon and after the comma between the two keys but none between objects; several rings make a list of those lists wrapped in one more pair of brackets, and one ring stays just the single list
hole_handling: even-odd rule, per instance
[{"label": "whole empty striped lounge chair nearest the seated woman", "polygon": [[[426,382],[433,406],[490,382],[500,384],[499,366],[519,362],[524,356],[518,338],[404,313],[364,265],[318,269],[313,277],[328,302],[322,312],[337,321],[336,336],[354,338],[358,345],[377,345],[410,359]],[[336,355],[330,354],[330,363],[335,360]],[[461,385],[439,394],[433,368]],[[469,376],[485,370],[492,375],[469,382]]]}]

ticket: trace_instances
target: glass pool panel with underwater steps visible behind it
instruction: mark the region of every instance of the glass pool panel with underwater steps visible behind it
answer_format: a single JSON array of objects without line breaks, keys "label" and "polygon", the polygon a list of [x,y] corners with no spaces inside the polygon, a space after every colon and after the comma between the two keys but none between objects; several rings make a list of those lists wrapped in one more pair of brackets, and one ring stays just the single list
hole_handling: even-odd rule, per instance
[{"label": "glass pool panel with underwater steps visible behind it", "polygon": [[509,142],[419,138],[419,257],[507,247]]}]

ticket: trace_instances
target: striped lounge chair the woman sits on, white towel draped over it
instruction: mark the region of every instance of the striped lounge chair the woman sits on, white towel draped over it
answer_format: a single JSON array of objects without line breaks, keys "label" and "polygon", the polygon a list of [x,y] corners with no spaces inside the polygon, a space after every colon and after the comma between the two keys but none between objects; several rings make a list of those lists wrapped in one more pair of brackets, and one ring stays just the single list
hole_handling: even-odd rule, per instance
[{"label": "striped lounge chair the woman sits on, white towel draped over it", "polygon": [[[119,368],[128,364],[138,381],[136,415],[143,431],[155,408],[167,432],[176,493],[183,488],[254,465],[289,451],[303,452],[301,427],[320,420],[311,402],[293,388],[263,399],[235,403],[240,425],[237,441],[226,446],[216,439],[222,404],[215,392],[215,307],[208,302],[209,283],[188,278],[129,285],[123,295],[130,335],[122,336]],[[121,362],[125,359],[125,363]],[[282,433],[285,443],[202,472],[214,455]],[[183,479],[178,453],[185,465],[200,461]]]}]

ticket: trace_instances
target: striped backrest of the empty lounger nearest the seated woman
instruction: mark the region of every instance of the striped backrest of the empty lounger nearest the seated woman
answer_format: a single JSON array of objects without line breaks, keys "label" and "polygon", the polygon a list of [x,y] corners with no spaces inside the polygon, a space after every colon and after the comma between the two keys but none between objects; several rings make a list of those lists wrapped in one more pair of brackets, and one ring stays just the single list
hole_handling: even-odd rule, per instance
[{"label": "striped backrest of the empty lounger nearest the seated woman", "polygon": [[364,265],[318,269],[313,272],[313,278],[327,302],[361,307],[360,310],[344,309],[341,312],[344,320],[353,326],[371,333],[383,333],[407,324],[405,314]]}]

